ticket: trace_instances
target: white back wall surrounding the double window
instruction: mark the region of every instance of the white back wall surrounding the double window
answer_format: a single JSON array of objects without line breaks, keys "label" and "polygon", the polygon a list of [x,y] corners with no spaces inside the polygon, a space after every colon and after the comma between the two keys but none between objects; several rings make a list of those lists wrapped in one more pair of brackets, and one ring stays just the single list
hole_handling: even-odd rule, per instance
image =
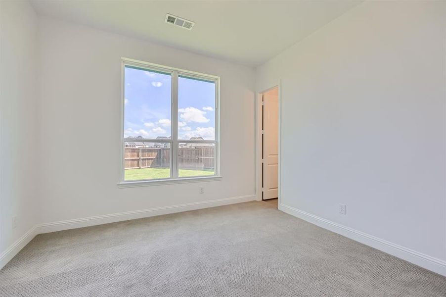
[{"label": "white back wall surrounding the double window", "polygon": [[[42,223],[254,199],[254,69],[49,18],[40,18],[39,32]],[[223,180],[118,189],[121,57],[221,77]]]}]

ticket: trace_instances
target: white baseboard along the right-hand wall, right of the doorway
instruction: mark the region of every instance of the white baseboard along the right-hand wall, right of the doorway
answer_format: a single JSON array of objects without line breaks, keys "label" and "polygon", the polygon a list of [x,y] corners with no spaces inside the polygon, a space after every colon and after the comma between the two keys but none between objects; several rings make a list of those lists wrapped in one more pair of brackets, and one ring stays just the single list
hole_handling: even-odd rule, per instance
[{"label": "white baseboard along the right-hand wall, right of the doorway", "polygon": [[369,247],[374,247],[388,254],[399,257],[403,260],[411,262],[415,265],[421,266],[428,270],[434,271],[438,274],[446,276],[446,261],[429,255],[417,252],[407,247],[401,247],[386,240],[374,237],[372,235],[357,231],[355,229],[340,225],[338,223],[323,219],[321,217],[312,215],[308,212],[302,211],[292,206],[281,203],[279,210],[291,214],[295,217],[310,222],[316,226],[333,231],[347,238],[353,239],[361,244]]}]

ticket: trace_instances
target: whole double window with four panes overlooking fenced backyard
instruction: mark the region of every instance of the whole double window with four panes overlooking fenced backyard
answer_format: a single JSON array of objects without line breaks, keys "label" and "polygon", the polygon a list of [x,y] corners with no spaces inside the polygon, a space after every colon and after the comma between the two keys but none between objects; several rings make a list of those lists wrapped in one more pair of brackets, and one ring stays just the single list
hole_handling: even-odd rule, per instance
[{"label": "whole double window with four panes overlooking fenced backyard", "polygon": [[123,60],[122,182],[218,176],[219,78]]}]

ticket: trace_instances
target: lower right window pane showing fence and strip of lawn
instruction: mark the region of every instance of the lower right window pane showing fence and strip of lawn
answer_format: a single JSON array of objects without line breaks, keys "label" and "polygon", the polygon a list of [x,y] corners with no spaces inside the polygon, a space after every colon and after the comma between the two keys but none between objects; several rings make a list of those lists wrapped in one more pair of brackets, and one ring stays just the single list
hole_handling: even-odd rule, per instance
[{"label": "lower right window pane showing fence and strip of lawn", "polygon": [[178,176],[214,175],[215,144],[178,144]]}]

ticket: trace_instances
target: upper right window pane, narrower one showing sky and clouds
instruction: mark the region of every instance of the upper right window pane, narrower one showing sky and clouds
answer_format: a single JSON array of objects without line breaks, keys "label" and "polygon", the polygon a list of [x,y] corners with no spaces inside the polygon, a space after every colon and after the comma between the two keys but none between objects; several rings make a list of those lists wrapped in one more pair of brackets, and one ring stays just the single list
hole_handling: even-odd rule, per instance
[{"label": "upper right window pane, narrower one showing sky and clouds", "polygon": [[215,82],[179,75],[178,139],[215,140]]}]

